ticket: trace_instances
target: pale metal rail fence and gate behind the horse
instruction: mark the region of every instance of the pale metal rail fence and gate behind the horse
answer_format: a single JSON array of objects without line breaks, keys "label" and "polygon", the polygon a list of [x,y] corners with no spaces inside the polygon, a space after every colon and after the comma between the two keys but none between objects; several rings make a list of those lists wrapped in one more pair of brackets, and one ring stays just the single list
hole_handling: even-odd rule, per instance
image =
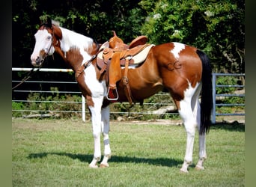
[{"label": "pale metal rail fence and gate behind the horse", "polygon": [[[28,72],[28,71],[31,71],[31,68],[12,68],[13,72]],[[38,69],[35,68],[34,71],[37,71]],[[68,72],[73,72],[72,70],[70,69],[46,69],[46,68],[41,68],[39,69],[38,71],[40,72],[52,72],[52,73],[68,73]],[[228,87],[228,88],[231,88],[231,87],[234,87],[234,88],[243,88],[243,85],[216,85],[216,77],[217,76],[244,76],[244,74],[221,74],[221,73],[213,73],[213,101],[214,101],[214,105],[213,105],[213,116],[212,116],[212,120],[213,120],[213,123],[216,123],[216,116],[218,115],[244,115],[244,113],[218,113],[216,112],[216,107],[222,107],[222,106],[244,106],[244,102],[243,103],[240,103],[240,104],[235,104],[235,103],[231,103],[231,104],[224,104],[224,103],[216,103],[216,97],[218,96],[224,96],[224,97],[228,97],[228,96],[240,96],[240,97],[244,97],[244,94],[218,94],[216,93],[216,88],[225,88],[225,87]],[[17,85],[19,84],[20,80],[13,80],[13,85]],[[66,84],[73,84],[73,85],[76,85],[77,83],[75,81],[68,81],[68,82],[56,82],[56,81],[38,81],[38,80],[29,80],[29,81],[25,81],[23,84],[49,84],[49,85],[66,85]],[[59,91],[59,90],[51,90],[51,91],[43,91],[43,90],[31,90],[31,89],[26,89],[26,90],[20,90],[20,89],[15,89],[13,91],[14,93],[68,93],[68,94],[78,94],[78,95],[81,95],[81,91],[79,91],[79,88],[77,87],[77,89],[73,89],[72,91]],[[158,93],[156,94],[156,96],[167,96],[169,98],[169,94],[168,93]],[[82,100],[82,101],[81,101]],[[164,100],[163,100],[164,101]],[[74,110],[74,111],[70,111],[70,110],[55,110],[55,111],[52,111],[52,110],[49,110],[49,111],[42,111],[40,110],[40,108],[34,108],[34,109],[12,109],[12,111],[20,111],[20,112],[34,112],[34,113],[43,113],[43,112],[52,112],[52,113],[58,113],[58,112],[65,112],[65,113],[81,113],[82,114],[82,120],[85,121],[85,114],[88,114],[89,111],[88,109],[85,108],[85,98],[82,96],[82,99],[80,99],[79,101],[52,101],[52,100],[29,100],[29,99],[12,99],[12,102],[16,102],[16,103],[19,103],[19,102],[25,102],[25,103],[28,103],[28,102],[32,102],[32,103],[38,103],[40,105],[40,103],[43,103],[43,102],[55,102],[55,103],[58,103],[58,104],[74,104],[74,105],[80,105],[78,110]],[[156,108],[159,108],[160,110],[162,111],[168,111],[168,113],[165,113],[165,116],[166,115],[177,115],[177,111],[175,111],[175,107],[174,107],[174,104],[171,105],[171,109],[170,109],[170,102],[161,102],[161,103],[155,103],[155,102],[145,102],[143,105],[146,105],[147,107],[147,111],[135,111],[135,112],[129,112],[129,111],[111,111],[111,114],[137,114],[137,115],[145,115],[145,114],[150,114],[150,115],[160,115],[162,117],[163,114],[159,114],[157,111],[158,110],[154,110],[154,111],[150,111],[150,108],[154,108],[156,105],[159,105],[161,106],[160,108],[159,107],[156,107]],[[154,107],[153,107],[154,106]],[[169,106],[169,109],[168,109],[168,106]],[[129,104],[127,103],[127,107],[129,107]],[[82,108],[82,111],[81,111],[81,108]],[[41,114],[42,115],[42,114]],[[47,115],[47,114],[44,114],[44,115]]]}]

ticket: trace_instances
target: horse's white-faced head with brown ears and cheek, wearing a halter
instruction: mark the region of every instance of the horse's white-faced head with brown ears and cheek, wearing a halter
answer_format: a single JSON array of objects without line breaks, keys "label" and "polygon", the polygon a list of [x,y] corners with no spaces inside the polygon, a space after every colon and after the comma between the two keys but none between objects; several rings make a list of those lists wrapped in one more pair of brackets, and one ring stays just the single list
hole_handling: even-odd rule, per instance
[{"label": "horse's white-faced head with brown ears and cheek, wearing a halter", "polygon": [[47,19],[47,22],[40,25],[37,33],[34,34],[35,45],[31,55],[31,64],[38,67],[43,63],[47,55],[52,55],[55,52],[53,42],[52,20]]}]

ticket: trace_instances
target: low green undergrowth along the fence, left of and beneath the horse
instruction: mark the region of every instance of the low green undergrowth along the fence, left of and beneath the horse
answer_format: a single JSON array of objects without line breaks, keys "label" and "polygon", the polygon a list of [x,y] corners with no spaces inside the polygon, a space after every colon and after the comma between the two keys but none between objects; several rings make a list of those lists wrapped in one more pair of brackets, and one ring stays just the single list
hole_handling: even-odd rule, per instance
[{"label": "low green undergrowth along the fence, left of and beneath the horse", "polygon": [[[60,94],[58,88],[50,88],[52,93],[30,93],[27,102],[13,102],[13,117],[28,116],[30,114],[50,114],[52,118],[82,117],[82,97],[80,95]],[[150,114],[159,108],[174,105],[168,93],[159,93],[144,100],[144,104],[135,103],[129,108],[128,102],[117,102],[110,105],[111,120],[122,117],[124,120],[156,120],[178,119],[177,111],[171,114]],[[17,110],[17,111],[16,111]],[[86,118],[90,112],[85,109]],[[141,113],[141,114],[138,114]]]}]

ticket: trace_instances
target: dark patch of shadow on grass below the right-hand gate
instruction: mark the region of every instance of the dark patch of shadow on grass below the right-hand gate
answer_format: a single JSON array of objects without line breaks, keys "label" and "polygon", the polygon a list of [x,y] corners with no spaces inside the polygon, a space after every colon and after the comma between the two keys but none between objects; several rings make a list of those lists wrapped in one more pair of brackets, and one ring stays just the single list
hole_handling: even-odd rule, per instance
[{"label": "dark patch of shadow on grass below the right-hand gate", "polygon": [[229,123],[227,121],[222,121],[213,124],[210,129],[225,129],[228,131],[236,131],[236,132],[245,132],[246,124],[245,123],[239,123],[237,120],[235,120],[232,123]]}]

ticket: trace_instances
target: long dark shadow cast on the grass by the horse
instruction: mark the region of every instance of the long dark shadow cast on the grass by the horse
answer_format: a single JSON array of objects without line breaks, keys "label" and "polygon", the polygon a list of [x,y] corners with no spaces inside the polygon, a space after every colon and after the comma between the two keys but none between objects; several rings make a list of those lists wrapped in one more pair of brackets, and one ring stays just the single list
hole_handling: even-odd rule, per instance
[{"label": "long dark shadow cast on the grass by the horse", "polygon": [[[31,153],[28,156],[28,159],[42,159],[48,155],[57,155],[57,156],[68,156],[71,159],[79,159],[81,162],[90,163],[93,155],[85,154],[73,154],[73,153]],[[122,162],[122,163],[146,163],[148,165],[161,165],[167,167],[180,167],[183,164],[182,160],[178,159],[168,159],[168,158],[138,158],[130,156],[112,156],[109,162]]]}]

